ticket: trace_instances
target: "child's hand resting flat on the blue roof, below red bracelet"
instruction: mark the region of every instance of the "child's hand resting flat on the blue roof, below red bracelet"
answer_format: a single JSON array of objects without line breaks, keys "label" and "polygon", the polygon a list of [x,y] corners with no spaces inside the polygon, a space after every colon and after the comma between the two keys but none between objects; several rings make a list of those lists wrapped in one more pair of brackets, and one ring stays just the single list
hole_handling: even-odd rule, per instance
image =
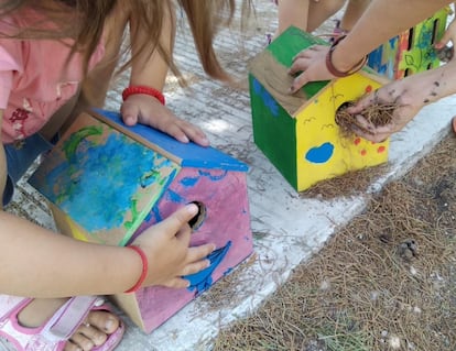
[{"label": "child's hand resting flat on the blue roof, below red bracelet", "polygon": [[193,141],[202,146],[209,145],[208,139],[198,127],[178,119],[153,97],[132,95],[123,102],[120,112],[127,125],[139,122],[170,134],[183,143]]}]

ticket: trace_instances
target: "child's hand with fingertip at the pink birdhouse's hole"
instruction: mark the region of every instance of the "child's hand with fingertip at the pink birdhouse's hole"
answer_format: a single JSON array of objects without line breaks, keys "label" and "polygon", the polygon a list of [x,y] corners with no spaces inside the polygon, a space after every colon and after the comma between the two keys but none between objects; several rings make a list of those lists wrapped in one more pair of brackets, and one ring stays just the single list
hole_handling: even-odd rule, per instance
[{"label": "child's hand with fingertip at the pink birdhouse's hole", "polygon": [[141,246],[149,260],[149,275],[144,286],[187,287],[189,282],[182,278],[183,275],[209,266],[206,256],[216,249],[214,244],[189,248],[192,230],[188,221],[197,211],[196,205],[187,205],[134,240],[133,244]]}]

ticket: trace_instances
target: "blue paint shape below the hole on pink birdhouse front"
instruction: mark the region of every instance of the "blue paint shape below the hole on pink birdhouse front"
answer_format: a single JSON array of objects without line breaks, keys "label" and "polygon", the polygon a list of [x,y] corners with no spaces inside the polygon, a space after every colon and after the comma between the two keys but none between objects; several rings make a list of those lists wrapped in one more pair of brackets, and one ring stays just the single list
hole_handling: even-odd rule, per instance
[{"label": "blue paint shape below the hole on pink birdhouse front", "polygon": [[188,290],[195,292],[195,295],[199,295],[213,285],[214,281],[211,275],[221,263],[230,248],[231,241],[228,241],[225,246],[215,250],[206,257],[210,261],[210,265],[207,268],[195,274],[183,276],[184,279],[187,279],[191,283]]}]

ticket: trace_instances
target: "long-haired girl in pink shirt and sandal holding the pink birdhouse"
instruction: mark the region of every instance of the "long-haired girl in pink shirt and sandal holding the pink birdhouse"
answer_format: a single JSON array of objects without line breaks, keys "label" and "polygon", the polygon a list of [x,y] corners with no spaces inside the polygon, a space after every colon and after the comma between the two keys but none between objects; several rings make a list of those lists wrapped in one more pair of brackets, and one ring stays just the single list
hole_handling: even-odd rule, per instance
[{"label": "long-haired girl in pink shirt and sandal holding the pink birdhouse", "polygon": [[[220,23],[232,18],[234,0],[0,1],[3,206],[14,183],[72,117],[102,107],[116,68],[131,69],[120,110],[127,124],[209,144],[202,130],[164,105],[169,69],[181,77],[172,59],[176,7],[186,13],[205,72],[229,80],[213,40]],[[130,58],[120,65],[124,54]],[[196,212],[196,206],[185,206],[132,246],[120,248],[56,235],[0,205],[0,334],[18,350],[112,350],[123,323],[94,296],[188,286],[182,276],[205,268],[215,249],[210,243],[189,248],[187,222]]]}]

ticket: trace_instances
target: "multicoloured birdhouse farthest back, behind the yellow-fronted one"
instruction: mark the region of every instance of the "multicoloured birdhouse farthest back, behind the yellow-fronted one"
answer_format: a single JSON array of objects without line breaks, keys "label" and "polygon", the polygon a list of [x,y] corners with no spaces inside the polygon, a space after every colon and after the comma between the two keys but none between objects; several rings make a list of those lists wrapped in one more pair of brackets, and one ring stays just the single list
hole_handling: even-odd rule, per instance
[{"label": "multicoloured birdhouse farthest back, behind the yellow-fronted one", "polygon": [[409,31],[393,36],[368,56],[368,66],[390,79],[400,79],[441,65],[434,48],[445,33],[450,9],[439,10]]}]

